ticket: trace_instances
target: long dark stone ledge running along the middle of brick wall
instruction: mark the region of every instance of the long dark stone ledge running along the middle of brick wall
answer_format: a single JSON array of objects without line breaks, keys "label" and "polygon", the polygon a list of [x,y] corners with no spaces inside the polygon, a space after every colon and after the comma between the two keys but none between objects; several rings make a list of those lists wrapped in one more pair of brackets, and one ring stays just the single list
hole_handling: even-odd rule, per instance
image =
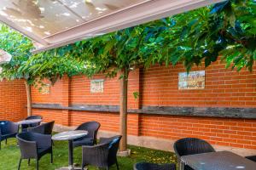
[{"label": "long dark stone ledge running along the middle of brick wall", "polygon": [[[70,105],[65,107],[60,104],[32,104],[32,108],[69,111],[119,112],[119,105]],[[143,106],[142,109],[129,109],[128,113],[256,119],[256,108]]]}]

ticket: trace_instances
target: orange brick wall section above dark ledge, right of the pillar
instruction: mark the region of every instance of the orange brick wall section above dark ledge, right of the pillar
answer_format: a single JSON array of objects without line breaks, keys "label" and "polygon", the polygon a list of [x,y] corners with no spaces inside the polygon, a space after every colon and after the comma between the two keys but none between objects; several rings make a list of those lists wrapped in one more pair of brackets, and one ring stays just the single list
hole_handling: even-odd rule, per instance
[{"label": "orange brick wall section above dark ledge, right of the pillar", "polygon": [[178,90],[183,66],[155,65],[142,73],[142,105],[256,107],[256,65],[253,70],[230,71],[217,61],[206,70],[205,89]]}]

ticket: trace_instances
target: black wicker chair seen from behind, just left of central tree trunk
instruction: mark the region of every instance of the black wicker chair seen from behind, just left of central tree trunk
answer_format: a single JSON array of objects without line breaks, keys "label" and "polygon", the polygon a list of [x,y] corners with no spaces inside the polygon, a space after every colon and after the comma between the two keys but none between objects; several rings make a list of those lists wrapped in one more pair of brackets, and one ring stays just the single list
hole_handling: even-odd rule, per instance
[{"label": "black wicker chair seen from behind, just left of central tree trunk", "polygon": [[110,166],[116,164],[119,170],[117,161],[117,151],[119,142],[122,136],[114,136],[109,139],[100,139],[99,144],[94,146],[82,147],[82,169],[85,166],[92,165],[96,167],[104,167],[109,169]]}]

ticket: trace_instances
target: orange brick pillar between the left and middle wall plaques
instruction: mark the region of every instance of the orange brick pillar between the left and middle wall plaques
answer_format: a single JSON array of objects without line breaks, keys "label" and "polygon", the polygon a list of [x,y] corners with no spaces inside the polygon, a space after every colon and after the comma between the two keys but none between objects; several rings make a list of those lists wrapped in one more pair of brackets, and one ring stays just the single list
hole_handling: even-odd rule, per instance
[{"label": "orange brick pillar between the left and middle wall plaques", "polygon": [[[61,105],[68,107],[70,103],[70,78],[67,76],[62,77],[62,97]],[[62,125],[70,126],[70,111],[62,110]]]}]

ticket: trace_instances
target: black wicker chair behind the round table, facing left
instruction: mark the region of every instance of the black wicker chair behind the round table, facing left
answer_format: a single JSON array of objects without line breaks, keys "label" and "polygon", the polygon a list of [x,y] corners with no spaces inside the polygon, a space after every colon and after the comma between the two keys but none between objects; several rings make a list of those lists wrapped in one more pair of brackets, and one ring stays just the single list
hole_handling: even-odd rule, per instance
[{"label": "black wicker chair behind the round table, facing left", "polygon": [[88,131],[88,134],[83,138],[74,139],[73,147],[96,144],[96,137],[100,127],[101,124],[99,122],[84,122],[79,125],[76,130],[86,130]]}]

